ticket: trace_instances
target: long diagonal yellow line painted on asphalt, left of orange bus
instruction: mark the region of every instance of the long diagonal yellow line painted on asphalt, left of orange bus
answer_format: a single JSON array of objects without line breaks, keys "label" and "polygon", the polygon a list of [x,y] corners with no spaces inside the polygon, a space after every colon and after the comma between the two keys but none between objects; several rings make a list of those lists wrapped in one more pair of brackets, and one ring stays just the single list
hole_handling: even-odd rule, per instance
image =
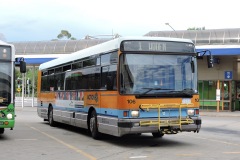
[{"label": "long diagonal yellow line painted on asphalt, left of orange bus", "polygon": [[75,146],[73,146],[73,145],[70,145],[70,144],[68,144],[68,143],[66,143],[66,142],[64,142],[64,141],[62,141],[62,140],[60,140],[60,139],[58,139],[58,138],[56,138],[56,137],[54,137],[54,136],[51,136],[51,135],[49,135],[49,134],[47,134],[47,133],[45,133],[45,132],[42,132],[42,131],[40,131],[39,129],[37,129],[37,128],[35,128],[35,127],[31,127],[31,126],[28,126],[28,127],[30,127],[31,129],[33,129],[33,130],[35,130],[35,131],[38,131],[38,132],[42,133],[43,135],[45,135],[45,136],[47,136],[47,137],[49,137],[49,138],[57,141],[58,143],[60,143],[60,144],[62,144],[62,145],[64,145],[64,146],[66,146],[66,147],[74,150],[75,152],[78,152],[78,153],[82,154],[84,157],[87,157],[87,158],[90,159],[90,160],[96,160],[96,159],[97,159],[96,157],[93,157],[92,155],[90,155],[90,154],[88,154],[88,153],[86,153],[86,152],[78,149],[77,147],[75,147]]}]

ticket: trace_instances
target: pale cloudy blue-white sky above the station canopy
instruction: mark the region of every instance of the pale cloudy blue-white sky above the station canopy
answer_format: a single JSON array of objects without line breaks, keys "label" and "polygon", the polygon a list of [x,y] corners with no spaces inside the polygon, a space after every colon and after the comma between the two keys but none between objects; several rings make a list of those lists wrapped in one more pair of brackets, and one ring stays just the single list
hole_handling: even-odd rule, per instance
[{"label": "pale cloudy blue-white sky above the station canopy", "polygon": [[238,0],[0,0],[0,35],[19,42],[57,39],[61,30],[83,39],[142,36],[172,28],[240,28],[238,4]]}]

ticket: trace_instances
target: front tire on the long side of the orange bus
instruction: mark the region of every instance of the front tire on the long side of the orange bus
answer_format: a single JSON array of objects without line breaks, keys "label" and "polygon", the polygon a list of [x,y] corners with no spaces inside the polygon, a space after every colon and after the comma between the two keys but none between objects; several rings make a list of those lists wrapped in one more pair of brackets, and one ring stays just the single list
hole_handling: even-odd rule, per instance
[{"label": "front tire on the long side of the orange bus", "polygon": [[94,139],[100,138],[100,133],[98,132],[98,125],[97,125],[97,113],[95,110],[93,110],[91,112],[91,117],[90,117],[90,122],[89,122],[89,130]]}]

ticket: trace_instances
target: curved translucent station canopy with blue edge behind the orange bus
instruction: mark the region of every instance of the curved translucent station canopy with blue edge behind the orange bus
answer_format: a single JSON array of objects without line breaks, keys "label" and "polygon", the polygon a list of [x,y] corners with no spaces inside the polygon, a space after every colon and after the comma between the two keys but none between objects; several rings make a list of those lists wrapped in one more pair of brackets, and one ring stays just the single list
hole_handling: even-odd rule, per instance
[{"label": "curved translucent station canopy with blue edge behind the orange bus", "polygon": [[[3,35],[2,35],[3,36]],[[144,36],[191,39],[197,51],[210,50],[212,55],[240,55],[240,28],[210,30],[150,31]],[[103,42],[105,39],[8,42],[14,44],[16,57],[24,57],[27,65],[41,63]]]}]

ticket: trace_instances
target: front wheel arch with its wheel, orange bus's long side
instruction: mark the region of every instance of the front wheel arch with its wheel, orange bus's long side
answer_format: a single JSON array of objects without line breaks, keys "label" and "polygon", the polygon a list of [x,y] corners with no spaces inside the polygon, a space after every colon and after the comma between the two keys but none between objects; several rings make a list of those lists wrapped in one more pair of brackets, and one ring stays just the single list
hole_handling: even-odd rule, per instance
[{"label": "front wheel arch with its wheel, orange bus's long side", "polygon": [[98,131],[97,113],[93,107],[91,107],[88,112],[88,130],[94,139],[100,138],[100,133]]}]

